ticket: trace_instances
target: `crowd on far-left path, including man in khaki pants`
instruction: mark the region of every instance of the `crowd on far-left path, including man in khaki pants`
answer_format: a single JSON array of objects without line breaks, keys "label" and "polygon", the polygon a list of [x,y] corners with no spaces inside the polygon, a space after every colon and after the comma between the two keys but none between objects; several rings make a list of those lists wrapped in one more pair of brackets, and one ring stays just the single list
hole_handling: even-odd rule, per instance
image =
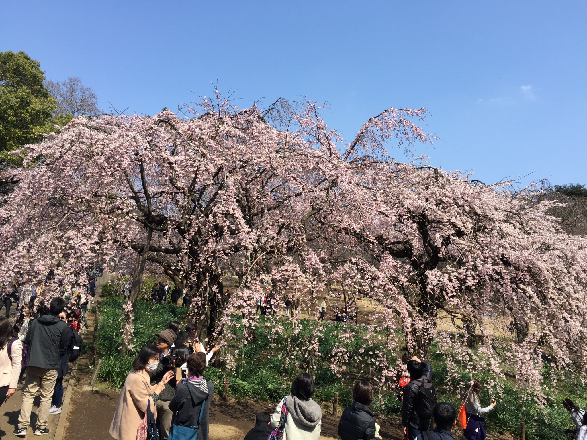
[{"label": "crowd on far-left path, including man in khaki pants", "polygon": [[[75,361],[82,351],[79,332],[87,328],[85,312],[95,296],[95,277],[102,273],[102,266],[80,268],[59,286],[49,303],[41,293],[48,288],[46,285],[55,288],[53,271],[38,285],[18,285],[15,281],[3,286],[2,306],[6,315],[0,318],[0,366],[4,371],[0,378],[0,405],[24,381],[14,435],[26,436],[37,392],[41,400],[35,435],[48,434],[49,415],[61,412],[63,377],[68,373],[69,362]],[[18,306],[11,316],[14,303]]]}]

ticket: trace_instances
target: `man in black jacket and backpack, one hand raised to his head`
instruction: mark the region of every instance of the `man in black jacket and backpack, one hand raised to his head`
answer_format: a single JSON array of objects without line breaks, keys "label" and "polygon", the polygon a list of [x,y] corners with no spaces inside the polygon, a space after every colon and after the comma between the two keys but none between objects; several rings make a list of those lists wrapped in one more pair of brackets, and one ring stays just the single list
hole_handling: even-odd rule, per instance
[{"label": "man in black jacket and backpack, one hand raised to his head", "polygon": [[407,371],[410,373],[410,382],[406,385],[402,400],[402,426],[404,434],[414,440],[420,432],[427,431],[430,426],[430,419],[421,419],[418,415],[421,404],[418,397],[420,387],[414,381],[432,382],[432,367],[423,359],[416,356],[407,363]]}]

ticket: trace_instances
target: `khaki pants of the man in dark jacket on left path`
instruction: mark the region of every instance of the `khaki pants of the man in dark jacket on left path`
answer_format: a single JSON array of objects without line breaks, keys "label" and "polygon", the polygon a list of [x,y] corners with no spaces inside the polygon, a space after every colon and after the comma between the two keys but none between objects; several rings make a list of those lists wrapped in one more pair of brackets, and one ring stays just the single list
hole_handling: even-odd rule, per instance
[{"label": "khaki pants of the man in dark jacket on left path", "polygon": [[37,414],[37,428],[46,428],[49,418],[49,407],[55,391],[57,370],[47,368],[26,367],[25,390],[22,393],[21,415],[18,417],[18,428],[26,428],[31,423],[31,410],[36,392],[41,388],[41,403]]}]

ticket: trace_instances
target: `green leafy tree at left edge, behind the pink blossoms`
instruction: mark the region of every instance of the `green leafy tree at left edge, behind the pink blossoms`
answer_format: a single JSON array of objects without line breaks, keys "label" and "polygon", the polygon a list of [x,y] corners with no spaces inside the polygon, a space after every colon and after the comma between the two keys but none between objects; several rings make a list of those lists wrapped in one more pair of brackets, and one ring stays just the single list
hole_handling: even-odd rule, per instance
[{"label": "green leafy tree at left edge, behind the pink blossoms", "polygon": [[0,52],[0,152],[35,143],[50,124],[56,100],[43,85],[45,72],[24,52]]}]

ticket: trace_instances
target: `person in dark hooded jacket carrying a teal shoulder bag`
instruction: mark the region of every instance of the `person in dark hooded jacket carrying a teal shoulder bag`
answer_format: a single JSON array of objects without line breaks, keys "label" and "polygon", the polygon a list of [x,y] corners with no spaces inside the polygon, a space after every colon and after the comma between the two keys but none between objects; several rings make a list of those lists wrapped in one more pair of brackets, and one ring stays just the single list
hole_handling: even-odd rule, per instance
[{"label": "person in dark hooded jacket carrying a teal shoulder bag", "polygon": [[[210,414],[210,400],[214,394],[214,385],[202,376],[204,368],[206,368],[204,353],[198,351],[188,357],[188,377],[178,383],[176,391],[169,401],[169,409],[176,413],[174,425],[182,427],[198,425],[198,440],[208,440],[208,415]],[[202,405],[204,405],[204,411],[202,419],[198,423]],[[173,425],[171,432],[173,432]]]}]

